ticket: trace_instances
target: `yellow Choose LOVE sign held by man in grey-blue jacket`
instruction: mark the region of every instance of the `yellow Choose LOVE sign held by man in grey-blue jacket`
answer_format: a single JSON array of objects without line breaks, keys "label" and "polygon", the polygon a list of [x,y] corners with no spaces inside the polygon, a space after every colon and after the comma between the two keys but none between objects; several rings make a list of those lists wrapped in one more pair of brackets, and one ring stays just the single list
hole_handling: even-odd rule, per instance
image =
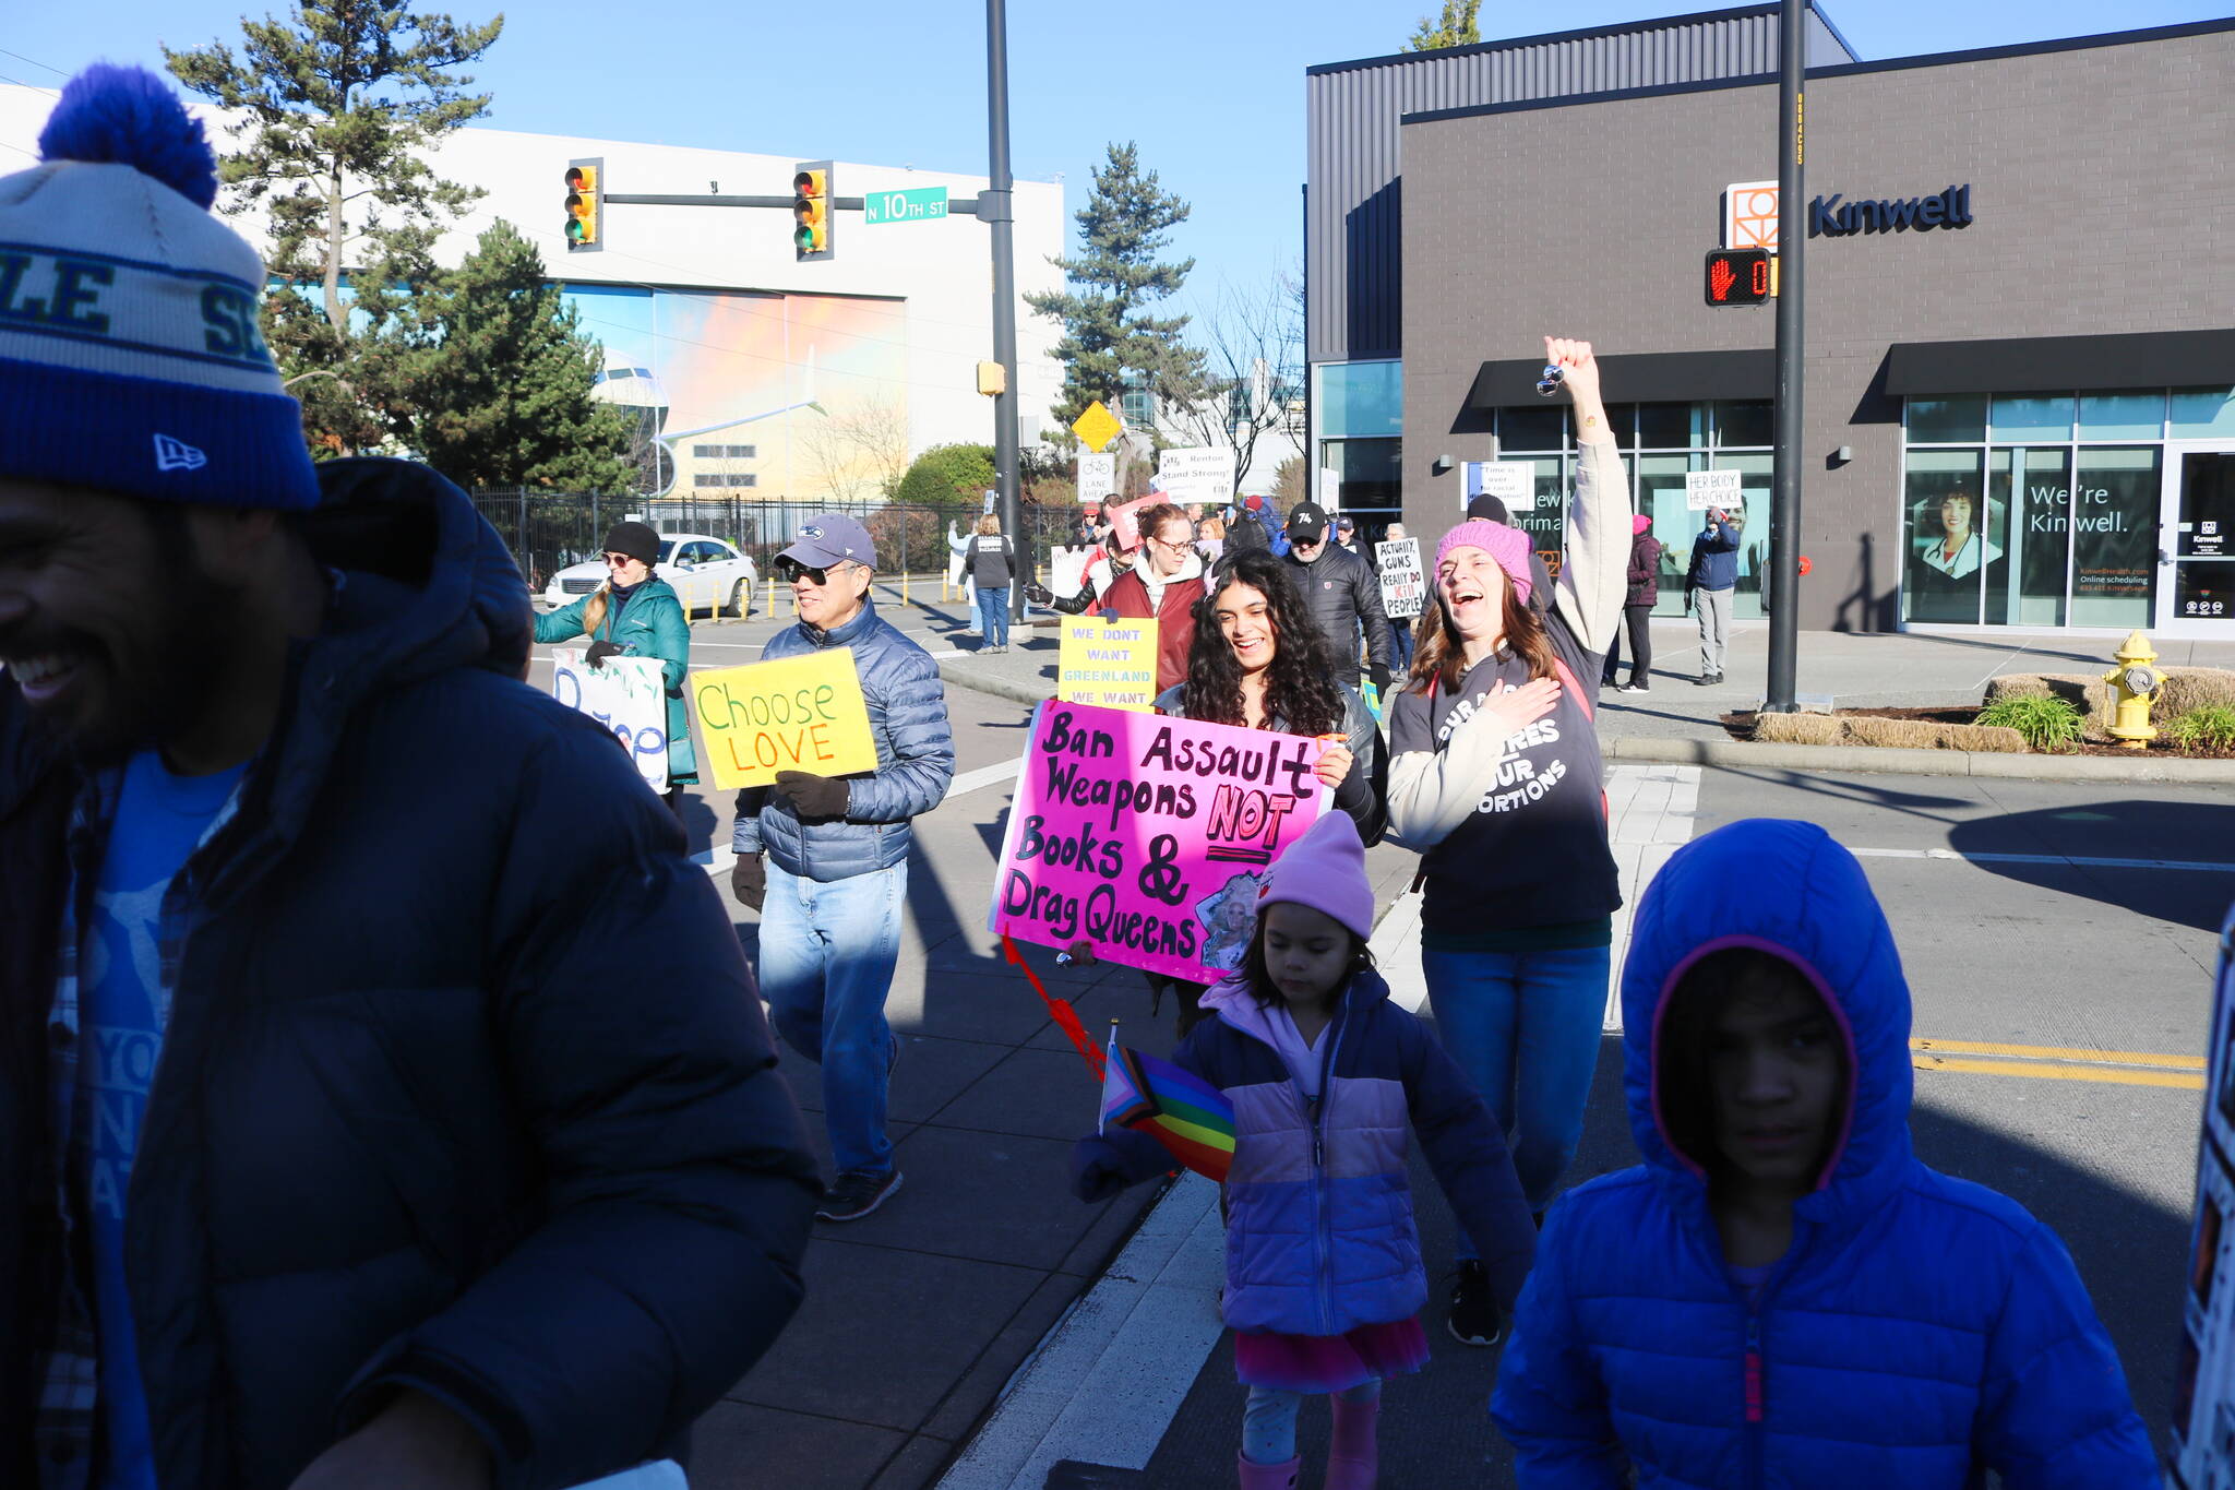
[{"label": "yellow Choose LOVE sign held by man in grey-blue jacket", "polygon": [[691,701],[715,786],[767,786],[778,771],[876,771],[869,708],[852,648],[700,672]]}]

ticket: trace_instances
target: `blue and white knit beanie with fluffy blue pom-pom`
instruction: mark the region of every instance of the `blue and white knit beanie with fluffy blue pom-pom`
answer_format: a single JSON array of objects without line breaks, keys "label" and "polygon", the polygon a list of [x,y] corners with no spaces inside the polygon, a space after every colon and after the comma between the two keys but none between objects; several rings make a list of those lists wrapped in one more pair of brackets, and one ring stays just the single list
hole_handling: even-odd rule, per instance
[{"label": "blue and white knit beanie with fluffy blue pom-pom", "polygon": [[0,176],[0,474],[221,507],[317,505],[257,324],[264,261],[210,214],[217,159],[139,67],[63,89]]}]

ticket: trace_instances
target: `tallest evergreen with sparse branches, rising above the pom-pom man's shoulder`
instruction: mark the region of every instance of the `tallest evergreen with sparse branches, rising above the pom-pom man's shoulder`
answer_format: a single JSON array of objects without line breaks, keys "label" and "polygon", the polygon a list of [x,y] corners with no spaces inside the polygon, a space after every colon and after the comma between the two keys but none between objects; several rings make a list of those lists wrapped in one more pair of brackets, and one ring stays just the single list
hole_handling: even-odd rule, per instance
[{"label": "tallest evergreen with sparse branches, rising above the pom-pom man's shoulder", "polygon": [[[224,42],[163,49],[192,92],[244,114],[221,161],[228,212],[268,214],[264,340],[302,400],[315,456],[378,447],[409,429],[396,364],[409,297],[436,281],[434,241],[481,197],[427,168],[429,150],[489,109],[454,69],[503,27],[413,16],[411,0],[299,0],[286,20],[244,20]],[[344,295],[346,288],[346,295]]]}]

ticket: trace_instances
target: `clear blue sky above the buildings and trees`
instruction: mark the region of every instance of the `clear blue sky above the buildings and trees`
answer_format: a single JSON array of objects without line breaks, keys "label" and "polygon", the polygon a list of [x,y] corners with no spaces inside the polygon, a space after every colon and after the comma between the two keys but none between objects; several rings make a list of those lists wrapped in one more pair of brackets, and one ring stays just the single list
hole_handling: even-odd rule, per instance
[{"label": "clear blue sky above the buildings and trees", "polygon": [[[463,20],[496,9],[447,2]],[[1173,243],[1198,259],[1187,297],[1209,297],[1220,279],[1263,284],[1303,250],[1303,69],[1397,51],[1428,9],[1433,0],[1017,0],[1008,25],[1017,174],[1062,174],[1077,208],[1104,145],[1133,139],[1144,165],[1193,203]],[[1705,7],[1489,0],[1482,31],[1491,40],[1696,9]],[[2228,0],[1826,0],[1824,11],[1877,60],[2213,20]],[[159,45],[237,42],[239,13],[239,0],[16,4],[0,34],[0,76],[58,87],[58,74],[96,58],[161,67]],[[507,13],[476,76],[496,94],[485,123],[507,130],[986,170],[986,29],[974,0],[536,0]]]}]

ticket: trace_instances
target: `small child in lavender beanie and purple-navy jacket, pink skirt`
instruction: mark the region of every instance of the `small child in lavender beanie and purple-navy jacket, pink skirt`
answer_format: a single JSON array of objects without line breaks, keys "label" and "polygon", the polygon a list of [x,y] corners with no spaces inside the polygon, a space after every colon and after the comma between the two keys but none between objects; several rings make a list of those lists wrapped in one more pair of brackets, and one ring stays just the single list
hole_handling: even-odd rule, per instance
[{"label": "small child in lavender beanie and purple-navy jacket, pink skirt", "polygon": [[[1227,1289],[1243,1412],[1243,1490],[1301,1470],[1296,1410],[1334,1394],[1328,1490],[1370,1490],[1381,1378],[1428,1360],[1428,1276],[1406,1186],[1406,1126],[1513,1307],[1535,1226],[1491,1110],[1426,1025],[1388,1001],[1366,938],[1375,891],[1348,813],[1272,867],[1243,970],[1202,994],[1173,1054],[1234,1104]],[[1126,1128],[1080,1139],[1082,1200],[1162,1175],[1171,1155]]]}]

